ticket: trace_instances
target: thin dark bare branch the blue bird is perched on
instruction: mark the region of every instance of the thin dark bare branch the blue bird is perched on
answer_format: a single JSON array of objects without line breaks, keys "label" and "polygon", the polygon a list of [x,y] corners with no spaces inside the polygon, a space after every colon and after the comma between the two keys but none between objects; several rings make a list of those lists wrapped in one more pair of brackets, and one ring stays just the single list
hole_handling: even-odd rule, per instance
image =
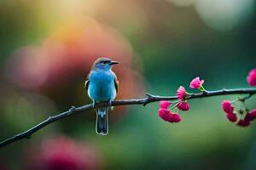
[{"label": "thin dark bare branch the blue bird is perched on", "polygon": [[[252,88],[236,88],[236,89],[222,89],[222,90],[216,90],[216,91],[205,91],[200,94],[189,94],[186,99],[199,99],[199,98],[207,98],[212,96],[219,96],[219,95],[228,95],[228,94],[249,94],[249,97],[251,97],[253,94],[256,94],[256,89]],[[160,101],[160,100],[175,100],[177,99],[177,96],[157,96],[152,94],[146,94],[147,97],[143,99],[120,99],[115,100],[111,103],[112,106],[117,105],[147,105],[148,103]],[[105,107],[109,106],[107,102],[102,102],[96,104],[96,107]],[[36,133],[41,128],[49,125],[50,123],[56,122],[62,118],[65,118],[67,116],[72,116],[74,114],[78,114],[81,111],[87,111],[93,109],[93,105],[83,105],[79,107],[72,106],[71,109],[68,111],[62,112],[55,116],[49,116],[44,122],[40,122],[38,125],[26,130],[23,133],[16,134],[14,137],[11,137],[9,139],[5,139],[0,143],[0,148],[2,148],[5,145],[11,144],[17,140],[20,139],[30,139],[32,136],[32,133]]]}]

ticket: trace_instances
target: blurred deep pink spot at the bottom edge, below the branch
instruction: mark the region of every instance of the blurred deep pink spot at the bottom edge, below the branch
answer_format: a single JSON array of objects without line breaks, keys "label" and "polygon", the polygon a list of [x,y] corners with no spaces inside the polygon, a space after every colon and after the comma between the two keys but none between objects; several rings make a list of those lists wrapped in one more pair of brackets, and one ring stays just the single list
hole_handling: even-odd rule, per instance
[{"label": "blurred deep pink spot at the bottom edge, below the branch", "polygon": [[94,145],[79,143],[64,136],[45,138],[25,150],[25,170],[100,169],[102,156]]}]

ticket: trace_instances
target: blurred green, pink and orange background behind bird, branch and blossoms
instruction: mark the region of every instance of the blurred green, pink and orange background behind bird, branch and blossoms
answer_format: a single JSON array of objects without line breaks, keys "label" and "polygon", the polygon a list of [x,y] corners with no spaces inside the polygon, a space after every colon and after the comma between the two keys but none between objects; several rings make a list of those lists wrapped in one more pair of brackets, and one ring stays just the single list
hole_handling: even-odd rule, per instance
[{"label": "blurred green, pink and orange background behind bird, branch and blossoms", "polygon": [[[98,57],[119,60],[118,99],[205,88],[247,88],[256,63],[254,0],[1,0],[0,139],[71,105]],[[195,92],[189,90],[189,92]],[[0,169],[255,169],[256,124],[228,122],[223,96],[189,101],[177,124],[158,103],[116,107],[108,136],[95,111],[55,122],[0,150]],[[256,97],[248,109],[256,107]]]}]

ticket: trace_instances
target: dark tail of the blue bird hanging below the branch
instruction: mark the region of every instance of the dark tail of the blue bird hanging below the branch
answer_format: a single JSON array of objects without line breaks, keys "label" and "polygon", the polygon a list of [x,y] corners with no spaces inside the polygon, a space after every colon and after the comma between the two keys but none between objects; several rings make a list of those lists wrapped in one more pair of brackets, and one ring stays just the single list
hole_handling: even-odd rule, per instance
[{"label": "dark tail of the blue bird hanging below the branch", "polygon": [[96,109],[96,133],[108,134],[108,107]]}]

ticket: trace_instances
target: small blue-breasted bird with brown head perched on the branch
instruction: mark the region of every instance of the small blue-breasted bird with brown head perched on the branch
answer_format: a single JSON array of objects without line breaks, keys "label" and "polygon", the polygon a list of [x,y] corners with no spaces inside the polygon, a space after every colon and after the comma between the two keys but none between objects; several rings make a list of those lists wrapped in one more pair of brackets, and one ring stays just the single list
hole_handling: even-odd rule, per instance
[{"label": "small blue-breasted bird with brown head perched on the branch", "polygon": [[96,133],[101,135],[108,134],[108,110],[113,109],[111,102],[118,93],[119,81],[112,71],[116,64],[119,62],[108,58],[96,59],[84,83],[94,108],[98,102],[108,102],[107,107],[96,108]]}]

